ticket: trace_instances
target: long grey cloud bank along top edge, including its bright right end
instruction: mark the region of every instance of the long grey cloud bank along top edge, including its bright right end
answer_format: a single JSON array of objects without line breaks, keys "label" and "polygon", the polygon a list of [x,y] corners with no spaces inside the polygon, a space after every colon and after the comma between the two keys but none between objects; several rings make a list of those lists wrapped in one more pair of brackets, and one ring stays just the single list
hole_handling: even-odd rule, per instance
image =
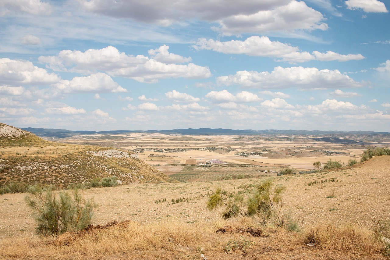
[{"label": "long grey cloud bank along top edge, including its bright right end", "polygon": [[169,5],[154,0],[116,1],[78,0],[83,10],[97,12],[112,17],[124,17],[143,23],[169,26],[174,22],[199,19],[219,22],[215,30],[223,34],[262,33],[268,31],[288,31],[304,29],[326,30],[323,15],[295,0],[227,0],[223,4],[216,1],[176,0]]}]

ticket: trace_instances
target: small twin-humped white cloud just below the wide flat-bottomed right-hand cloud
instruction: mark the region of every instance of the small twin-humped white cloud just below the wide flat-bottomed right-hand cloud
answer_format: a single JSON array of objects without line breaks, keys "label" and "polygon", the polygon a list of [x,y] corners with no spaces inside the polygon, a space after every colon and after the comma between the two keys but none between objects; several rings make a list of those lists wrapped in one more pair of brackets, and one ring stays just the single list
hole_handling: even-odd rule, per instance
[{"label": "small twin-humped white cloud just below the wide flat-bottomed right-hand cloud", "polygon": [[250,103],[250,102],[259,102],[262,98],[259,98],[256,94],[250,93],[248,91],[241,91],[234,96],[232,93],[226,89],[222,91],[211,91],[206,94],[206,98],[209,98],[212,102],[215,103],[227,103],[227,102],[238,102],[238,103]]}]

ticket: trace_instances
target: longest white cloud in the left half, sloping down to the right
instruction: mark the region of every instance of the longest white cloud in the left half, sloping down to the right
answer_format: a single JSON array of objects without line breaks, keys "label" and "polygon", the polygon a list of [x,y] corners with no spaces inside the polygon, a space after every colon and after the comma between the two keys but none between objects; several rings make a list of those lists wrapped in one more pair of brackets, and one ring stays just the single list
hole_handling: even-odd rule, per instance
[{"label": "longest white cloud in the left half, sloping down to the right", "polygon": [[[168,47],[168,46],[167,46]],[[155,50],[154,50],[155,51]],[[153,52],[155,55],[161,52]],[[179,56],[179,55],[177,55]],[[177,60],[173,55],[170,61]],[[181,56],[180,56],[181,57]],[[164,55],[158,59],[169,59]],[[39,61],[48,64],[47,67],[57,71],[78,73],[95,73],[105,71],[113,77],[132,78],[139,82],[156,83],[163,78],[209,78],[209,68],[189,63],[167,64],[144,55],[131,56],[119,52],[117,48],[108,46],[103,49],[89,49],[85,52],[62,50],[57,56],[41,56]]]}]

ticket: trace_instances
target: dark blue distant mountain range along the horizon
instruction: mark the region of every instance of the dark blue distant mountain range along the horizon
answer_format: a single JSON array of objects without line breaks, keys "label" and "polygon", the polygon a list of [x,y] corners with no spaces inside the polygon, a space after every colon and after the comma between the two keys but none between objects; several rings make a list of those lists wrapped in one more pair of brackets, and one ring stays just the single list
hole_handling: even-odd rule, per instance
[{"label": "dark blue distant mountain range along the horizon", "polygon": [[66,129],[52,129],[52,128],[21,128],[28,132],[32,132],[40,137],[53,137],[53,138],[66,138],[74,135],[91,135],[91,134],[102,134],[102,135],[115,135],[115,134],[130,134],[130,133],[160,133],[167,135],[286,135],[286,136],[311,136],[319,138],[326,138],[328,142],[340,142],[337,140],[339,137],[353,138],[355,136],[360,137],[374,137],[374,139],[385,139],[390,138],[389,132],[372,132],[372,131],[308,131],[308,130],[234,130],[234,129],[223,129],[223,128],[179,128],[173,130],[112,130],[112,131],[71,131]]}]

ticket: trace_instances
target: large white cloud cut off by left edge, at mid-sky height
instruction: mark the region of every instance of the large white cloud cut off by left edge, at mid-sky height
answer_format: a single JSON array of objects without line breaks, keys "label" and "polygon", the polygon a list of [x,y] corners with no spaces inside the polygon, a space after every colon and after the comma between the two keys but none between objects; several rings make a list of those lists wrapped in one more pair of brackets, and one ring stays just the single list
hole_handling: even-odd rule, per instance
[{"label": "large white cloud cut off by left edge, at mid-sky height", "polygon": [[30,61],[0,59],[0,84],[5,85],[47,85],[58,82],[55,73],[34,66]]}]

